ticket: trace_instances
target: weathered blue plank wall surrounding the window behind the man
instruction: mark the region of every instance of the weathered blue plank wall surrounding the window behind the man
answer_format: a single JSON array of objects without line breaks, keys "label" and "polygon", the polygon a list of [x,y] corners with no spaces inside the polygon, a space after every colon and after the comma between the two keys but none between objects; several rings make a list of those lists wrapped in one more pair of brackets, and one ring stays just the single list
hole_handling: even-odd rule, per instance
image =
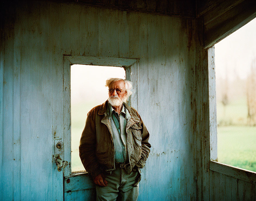
[{"label": "weathered blue plank wall surrounding the window behind the man", "polygon": [[[138,112],[152,145],[139,200],[213,198],[209,185],[220,183],[209,179],[213,173],[202,162],[208,57],[195,19],[49,1],[15,4],[6,13],[0,44],[2,200],[63,200],[62,172],[52,161],[53,141],[63,134],[63,54],[139,58]],[[65,199],[83,196],[90,200],[95,191],[66,193]]]}]

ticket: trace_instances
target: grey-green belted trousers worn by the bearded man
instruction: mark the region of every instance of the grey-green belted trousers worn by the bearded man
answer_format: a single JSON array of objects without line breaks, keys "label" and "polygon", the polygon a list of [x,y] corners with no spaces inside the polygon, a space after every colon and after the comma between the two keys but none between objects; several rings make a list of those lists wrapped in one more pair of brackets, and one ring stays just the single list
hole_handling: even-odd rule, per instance
[{"label": "grey-green belted trousers worn by the bearded man", "polygon": [[105,173],[107,186],[96,185],[97,201],[137,201],[139,185],[134,187],[138,172],[128,174],[124,168],[118,167],[109,173]]}]

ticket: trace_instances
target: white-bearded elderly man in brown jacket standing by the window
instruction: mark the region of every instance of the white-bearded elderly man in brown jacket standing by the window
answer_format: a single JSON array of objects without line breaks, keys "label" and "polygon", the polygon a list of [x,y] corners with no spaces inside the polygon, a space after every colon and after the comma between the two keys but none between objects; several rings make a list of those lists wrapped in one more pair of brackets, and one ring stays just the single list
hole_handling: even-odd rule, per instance
[{"label": "white-bearded elderly man in brown jacket standing by the window", "polygon": [[137,200],[140,168],[149,156],[149,133],[125,102],[131,82],[109,78],[109,98],[87,114],[79,156],[96,184],[97,200]]}]

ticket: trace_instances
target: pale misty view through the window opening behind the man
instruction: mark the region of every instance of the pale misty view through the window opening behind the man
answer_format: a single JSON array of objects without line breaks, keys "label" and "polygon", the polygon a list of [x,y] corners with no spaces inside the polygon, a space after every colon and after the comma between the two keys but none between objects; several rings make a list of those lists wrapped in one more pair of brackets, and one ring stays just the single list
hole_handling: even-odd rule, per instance
[{"label": "pale misty view through the window opening behind the man", "polygon": [[125,79],[125,70],[109,66],[71,66],[71,171],[85,170],[79,157],[79,142],[87,113],[108,99],[106,79]]}]

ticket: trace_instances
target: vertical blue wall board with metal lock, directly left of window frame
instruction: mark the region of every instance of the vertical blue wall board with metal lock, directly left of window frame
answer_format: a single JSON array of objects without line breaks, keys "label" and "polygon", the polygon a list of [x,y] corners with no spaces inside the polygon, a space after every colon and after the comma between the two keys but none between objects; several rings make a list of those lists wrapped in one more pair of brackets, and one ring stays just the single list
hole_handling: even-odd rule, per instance
[{"label": "vertical blue wall board with metal lock, directly left of window frame", "polygon": [[[49,13],[50,19],[59,19],[59,13],[55,9],[61,11],[61,4],[59,3],[50,3]],[[55,33],[57,36],[62,36],[63,33],[61,27],[59,26],[59,21],[50,20],[51,26],[49,26],[49,33]],[[48,75],[48,84],[45,83],[45,87],[51,83],[50,89],[50,101],[51,104],[48,106],[51,108],[51,131],[48,133],[49,141],[51,140],[51,198],[52,200],[63,200],[63,185],[61,184],[63,180],[63,172],[57,170],[57,165],[52,157],[55,153],[55,139],[62,139],[63,136],[63,55],[62,55],[62,46],[61,39],[56,37],[50,37],[49,43],[52,44],[49,46],[49,57],[51,60],[48,65],[51,67]],[[65,147],[64,147],[65,152]],[[63,159],[63,158],[62,158]],[[64,160],[66,160],[64,158]]]}]

